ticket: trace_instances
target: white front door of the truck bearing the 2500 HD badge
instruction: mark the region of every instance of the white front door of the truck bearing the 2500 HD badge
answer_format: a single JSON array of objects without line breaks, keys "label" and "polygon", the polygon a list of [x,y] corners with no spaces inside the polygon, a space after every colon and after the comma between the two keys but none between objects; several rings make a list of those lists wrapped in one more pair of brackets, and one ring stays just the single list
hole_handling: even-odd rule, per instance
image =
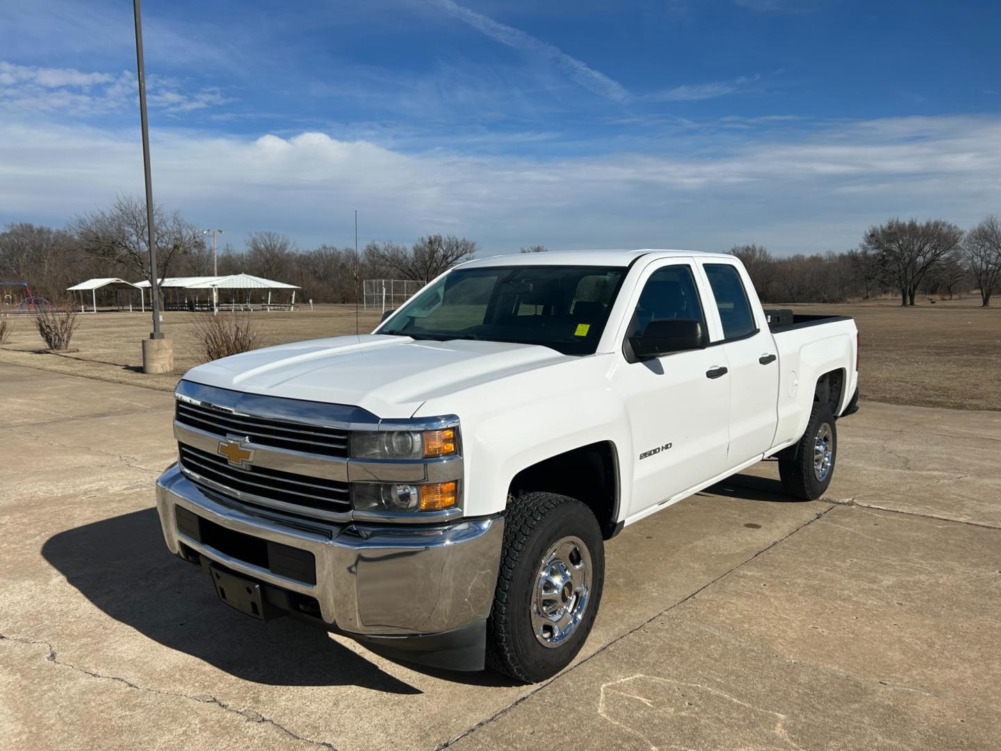
[{"label": "white front door of the truck bearing the 2500 HD badge", "polygon": [[[631,320],[620,345],[655,319],[703,321],[699,273],[690,258],[655,261],[645,269],[630,302]],[[723,347],[674,352],[630,361],[624,351],[616,380],[626,396],[633,433],[634,515],[677,496],[727,469],[730,386],[714,368],[726,366]],[[624,458],[625,460],[625,458]]]}]

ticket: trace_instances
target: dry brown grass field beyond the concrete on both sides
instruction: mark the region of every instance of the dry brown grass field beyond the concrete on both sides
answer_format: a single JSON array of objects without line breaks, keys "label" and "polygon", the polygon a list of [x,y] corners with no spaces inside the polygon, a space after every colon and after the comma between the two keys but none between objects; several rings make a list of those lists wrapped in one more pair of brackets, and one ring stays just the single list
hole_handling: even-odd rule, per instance
[{"label": "dry brown grass field beyond the concrete on both sides", "polygon": [[[903,309],[894,300],[835,305],[794,305],[798,311],[851,315],[862,334],[862,398],[897,405],[1001,411],[1001,307],[981,308],[972,296],[921,300]],[[197,364],[191,320],[205,313],[164,313],[163,330],[174,339],[173,376],[144,376],[140,341],[149,313],[80,315],[72,347],[49,354],[27,316],[13,317],[13,331],[0,344],[0,362],[134,384],[170,391]],[[314,310],[255,312],[264,345],[354,333],[353,305],[317,305]],[[370,331],[377,312],[361,311],[359,330]]]}]

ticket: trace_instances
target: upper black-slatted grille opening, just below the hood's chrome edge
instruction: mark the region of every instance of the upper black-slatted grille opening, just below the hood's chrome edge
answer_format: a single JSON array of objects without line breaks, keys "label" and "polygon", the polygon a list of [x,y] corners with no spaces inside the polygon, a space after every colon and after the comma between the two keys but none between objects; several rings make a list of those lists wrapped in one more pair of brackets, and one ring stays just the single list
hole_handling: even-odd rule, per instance
[{"label": "upper black-slatted grille opening, just below the hood's chrome edge", "polygon": [[223,438],[233,435],[275,449],[324,457],[347,456],[347,431],[336,428],[249,417],[180,400],[177,401],[176,418],[182,425]]}]

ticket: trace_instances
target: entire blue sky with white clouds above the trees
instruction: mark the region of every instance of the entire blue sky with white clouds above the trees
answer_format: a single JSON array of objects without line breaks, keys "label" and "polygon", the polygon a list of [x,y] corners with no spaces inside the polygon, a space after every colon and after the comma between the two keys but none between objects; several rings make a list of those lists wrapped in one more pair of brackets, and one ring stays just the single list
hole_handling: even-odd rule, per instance
[{"label": "entire blue sky with white clouds above the trees", "polygon": [[[146,0],[156,199],[300,246],[842,250],[1001,212],[1001,3]],[[141,194],[131,3],[0,4],[0,223]]]}]

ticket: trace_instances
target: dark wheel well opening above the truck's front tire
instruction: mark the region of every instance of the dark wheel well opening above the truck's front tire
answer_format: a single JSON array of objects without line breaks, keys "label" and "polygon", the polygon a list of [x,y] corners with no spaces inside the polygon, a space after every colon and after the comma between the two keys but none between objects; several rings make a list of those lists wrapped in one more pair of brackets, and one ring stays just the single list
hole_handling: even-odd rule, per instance
[{"label": "dark wheel well opening above the truck's front tire", "polygon": [[582,446],[522,470],[511,482],[513,497],[543,491],[570,496],[587,504],[606,540],[618,529],[619,462],[609,441]]}]

